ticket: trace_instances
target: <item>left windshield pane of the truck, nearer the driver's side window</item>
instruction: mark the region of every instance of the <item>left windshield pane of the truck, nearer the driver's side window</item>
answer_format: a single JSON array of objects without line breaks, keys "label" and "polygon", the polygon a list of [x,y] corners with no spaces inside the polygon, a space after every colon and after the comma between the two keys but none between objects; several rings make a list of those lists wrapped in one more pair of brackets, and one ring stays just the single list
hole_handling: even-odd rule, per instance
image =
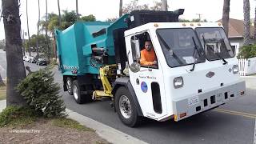
[{"label": "left windshield pane of the truck, nearer the driver's side window", "polygon": [[158,29],[157,35],[170,67],[206,61],[205,53],[193,29]]}]

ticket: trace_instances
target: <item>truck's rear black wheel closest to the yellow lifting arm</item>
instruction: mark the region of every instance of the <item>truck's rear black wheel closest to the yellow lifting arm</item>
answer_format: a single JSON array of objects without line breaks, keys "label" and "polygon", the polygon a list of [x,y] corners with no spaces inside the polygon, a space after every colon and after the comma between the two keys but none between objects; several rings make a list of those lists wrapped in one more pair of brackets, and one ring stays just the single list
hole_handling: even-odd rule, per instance
[{"label": "truck's rear black wheel closest to the yellow lifting arm", "polygon": [[[92,96],[90,94],[81,94],[83,88],[78,85],[78,80],[73,81],[73,95],[74,100],[78,104],[87,103],[92,101]],[[83,90],[85,91],[85,90]]]}]

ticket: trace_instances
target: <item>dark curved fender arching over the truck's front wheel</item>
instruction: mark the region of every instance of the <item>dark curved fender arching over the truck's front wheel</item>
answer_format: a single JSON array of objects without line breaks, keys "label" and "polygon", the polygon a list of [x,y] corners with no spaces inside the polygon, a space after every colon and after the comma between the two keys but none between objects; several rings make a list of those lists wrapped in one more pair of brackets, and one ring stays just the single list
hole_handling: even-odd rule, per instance
[{"label": "dark curved fender arching over the truck's front wheel", "polygon": [[[130,79],[128,77],[117,78],[113,84],[113,89],[111,93],[114,95],[115,92],[118,90],[118,87],[120,86],[125,86],[126,89],[130,91],[130,94],[134,100],[135,108],[138,111],[138,116],[143,116],[141,106],[138,103],[138,98],[135,94],[134,87],[130,83]],[[114,110],[115,110],[115,107],[114,107]]]}]

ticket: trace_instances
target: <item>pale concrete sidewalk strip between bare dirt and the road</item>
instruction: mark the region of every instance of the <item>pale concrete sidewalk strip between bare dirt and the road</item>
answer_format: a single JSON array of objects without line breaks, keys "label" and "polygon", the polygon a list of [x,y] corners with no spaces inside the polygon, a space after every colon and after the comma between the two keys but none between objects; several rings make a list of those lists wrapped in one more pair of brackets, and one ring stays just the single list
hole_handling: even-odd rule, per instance
[{"label": "pale concrete sidewalk strip between bare dirt and the road", "polygon": [[[6,100],[0,101],[0,113],[3,109],[6,108]],[[101,122],[94,121],[91,118],[87,118],[83,116],[82,114],[78,114],[72,110],[66,109],[66,112],[69,114],[68,118],[72,118],[82,124],[83,126],[90,127],[91,129],[96,130],[96,133],[102,137],[105,138],[106,141],[110,143],[122,143],[122,144],[130,144],[130,143],[142,143],[146,144],[146,142],[143,142],[142,140],[139,140],[138,138],[134,138],[128,134],[123,133],[122,131],[115,130],[114,128],[110,126],[106,126],[102,124]]]}]

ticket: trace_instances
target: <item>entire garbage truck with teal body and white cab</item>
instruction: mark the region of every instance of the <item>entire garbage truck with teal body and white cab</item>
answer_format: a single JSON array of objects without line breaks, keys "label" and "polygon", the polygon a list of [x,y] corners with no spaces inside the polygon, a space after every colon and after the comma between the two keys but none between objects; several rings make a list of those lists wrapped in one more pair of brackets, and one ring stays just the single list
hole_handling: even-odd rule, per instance
[{"label": "entire garbage truck with teal body and white cab", "polygon": [[[184,10],[134,10],[115,22],[55,30],[63,90],[78,104],[109,99],[121,122],[178,122],[246,93],[219,22],[178,22]],[[140,62],[150,41],[154,65]],[[99,103],[100,104],[100,103]]]}]

